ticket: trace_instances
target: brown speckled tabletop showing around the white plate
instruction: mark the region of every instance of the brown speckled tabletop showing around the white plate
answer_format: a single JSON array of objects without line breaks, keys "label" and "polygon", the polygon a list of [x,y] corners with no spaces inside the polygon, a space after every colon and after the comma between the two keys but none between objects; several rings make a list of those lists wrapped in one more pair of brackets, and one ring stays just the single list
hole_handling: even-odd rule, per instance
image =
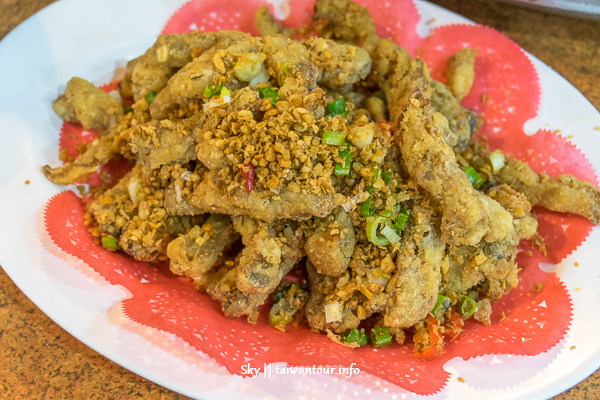
[{"label": "brown speckled tabletop showing around the white plate", "polygon": [[[0,38],[52,0],[0,0]],[[434,1],[503,32],[600,109],[600,22],[491,0]],[[6,62],[6,60],[3,60]],[[0,397],[186,399],[121,368],[43,314],[0,269]],[[600,399],[600,370],[556,399]]]}]

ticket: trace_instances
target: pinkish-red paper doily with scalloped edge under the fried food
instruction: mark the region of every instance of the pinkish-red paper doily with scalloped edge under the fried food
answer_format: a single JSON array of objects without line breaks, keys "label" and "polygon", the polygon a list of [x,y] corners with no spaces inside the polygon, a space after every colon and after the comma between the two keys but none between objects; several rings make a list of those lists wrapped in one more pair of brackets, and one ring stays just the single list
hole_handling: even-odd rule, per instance
[{"label": "pinkish-red paper doily with scalloped edge under the fried food", "polygon": [[[443,64],[459,49],[456,43],[476,47],[477,79],[464,104],[483,114],[484,133],[490,136],[492,146],[528,162],[536,171],[551,176],[571,173],[597,182],[581,152],[559,135],[548,131],[533,136],[523,133],[523,123],[536,114],[540,91],[537,74],[517,45],[478,25],[437,28],[422,39],[415,33],[419,15],[412,1],[391,5],[374,0],[360,3],[372,11],[380,33],[411,50],[420,48],[430,63],[432,76],[442,81]],[[231,2],[192,0],[173,14],[163,32],[240,29],[253,33],[253,13],[261,4],[259,0],[238,0],[233,7]],[[312,1],[293,1],[292,14],[286,22],[305,23],[310,19],[307,10],[311,8]],[[494,85],[495,82],[502,85]],[[487,97],[485,102],[481,101],[483,94]],[[61,147],[68,146],[68,135],[73,136],[69,137],[71,141],[79,140],[76,132],[63,129]],[[523,268],[520,284],[494,305],[492,325],[467,321],[461,336],[448,344],[438,359],[426,362],[416,359],[409,345],[350,350],[333,345],[306,326],[279,332],[269,326],[266,307],[256,325],[249,325],[244,319],[227,319],[217,303],[194,291],[183,278],[172,275],[167,265],[137,262],[96,245],[83,224],[82,202],[72,192],[54,196],[46,206],[44,218],[48,234],[59,248],[87,263],[111,284],[122,285],[131,292],[131,298],[122,302],[129,318],[175,334],[232,374],[240,374],[241,366],[248,362],[255,367],[282,361],[292,366],[357,363],[363,372],[414,393],[432,394],[446,384],[449,374],[443,366],[453,357],[468,359],[490,353],[535,355],[548,351],[564,337],[571,319],[570,297],[559,278],[543,272],[538,264],[562,260],[585,240],[591,224],[577,216],[542,209],[536,212],[548,255],[522,243],[521,248],[531,250],[532,255],[518,255]],[[543,285],[539,292],[533,290],[536,283]],[[500,321],[502,312],[506,319]],[[374,380],[367,376],[357,376],[353,382],[375,388]]]}]

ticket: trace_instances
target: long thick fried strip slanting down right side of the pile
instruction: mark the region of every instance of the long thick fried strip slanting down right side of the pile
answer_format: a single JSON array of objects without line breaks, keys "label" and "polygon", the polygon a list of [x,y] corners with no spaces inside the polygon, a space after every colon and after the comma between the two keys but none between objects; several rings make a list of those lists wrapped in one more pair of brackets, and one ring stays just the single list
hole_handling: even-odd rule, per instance
[{"label": "long thick fried strip slanting down right side of the pile", "polygon": [[[400,127],[401,150],[411,176],[440,202],[442,239],[448,244],[476,245],[513,234],[512,216],[500,203],[475,190],[435,125],[426,99],[409,100]],[[425,128],[425,129],[423,129]]]}]

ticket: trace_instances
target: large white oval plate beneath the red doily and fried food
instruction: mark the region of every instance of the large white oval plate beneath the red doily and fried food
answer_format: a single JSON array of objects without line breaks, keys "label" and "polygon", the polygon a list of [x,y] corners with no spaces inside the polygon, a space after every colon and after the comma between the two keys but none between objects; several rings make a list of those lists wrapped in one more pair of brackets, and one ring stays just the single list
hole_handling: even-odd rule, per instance
[{"label": "large white oval plate beneath the red doily and fried food", "polygon": [[[123,367],[194,398],[383,398],[419,397],[407,391],[365,390],[327,376],[242,379],[183,340],[141,328],[120,312],[129,294],[111,286],[85,264],[53,249],[42,226],[46,201],[63,190],[39,167],[58,165],[61,121],[51,102],[72,76],[102,84],[116,68],[142,54],[183,0],[63,0],[34,15],[0,42],[0,265],[50,318],[79,340]],[[418,31],[467,22],[428,3],[417,3]],[[118,11],[117,11],[118,10]],[[434,23],[426,25],[424,21]],[[600,170],[600,115],[567,81],[531,57],[539,73],[538,116],[525,130],[560,129]],[[30,180],[30,185],[24,181]],[[446,363],[448,385],[437,398],[532,399],[557,394],[600,366],[600,230],[558,265],[573,299],[565,339],[533,357],[483,356]],[[576,260],[581,267],[569,268]],[[575,290],[579,288],[578,290]],[[592,318],[590,318],[592,317]],[[574,350],[571,350],[576,346]],[[456,378],[464,378],[460,383]],[[384,386],[382,385],[382,388]]]}]

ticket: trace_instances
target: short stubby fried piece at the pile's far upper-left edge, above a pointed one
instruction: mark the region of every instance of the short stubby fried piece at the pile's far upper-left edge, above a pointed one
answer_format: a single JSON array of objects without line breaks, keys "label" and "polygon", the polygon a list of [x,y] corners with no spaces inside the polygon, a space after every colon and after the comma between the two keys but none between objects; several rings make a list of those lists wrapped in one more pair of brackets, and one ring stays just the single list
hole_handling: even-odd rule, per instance
[{"label": "short stubby fried piece at the pile's far upper-left edge, above a pointed one", "polygon": [[119,100],[81,78],[71,78],[65,92],[52,103],[64,121],[80,123],[83,129],[106,132],[123,115]]}]

